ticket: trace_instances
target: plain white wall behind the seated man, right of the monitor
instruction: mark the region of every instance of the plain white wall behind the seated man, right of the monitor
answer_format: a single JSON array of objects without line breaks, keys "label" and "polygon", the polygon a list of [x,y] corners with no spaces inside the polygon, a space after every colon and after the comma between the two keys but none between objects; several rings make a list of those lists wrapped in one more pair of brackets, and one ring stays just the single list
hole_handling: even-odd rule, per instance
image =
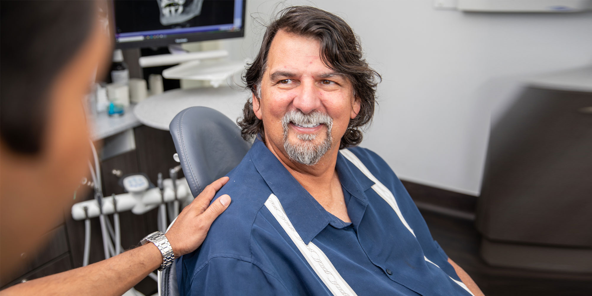
[{"label": "plain white wall behind the seated man, right of the monitor", "polygon": [[[289,4],[345,18],[382,74],[379,108],[363,147],[401,179],[478,195],[490,110],[517,76],[592,63],[592,14],[441,11],[432,1],[247,1],[244,40],[221,45],[253,57],[262,25]],[[260,20],[253,20],[253,17]]]}]

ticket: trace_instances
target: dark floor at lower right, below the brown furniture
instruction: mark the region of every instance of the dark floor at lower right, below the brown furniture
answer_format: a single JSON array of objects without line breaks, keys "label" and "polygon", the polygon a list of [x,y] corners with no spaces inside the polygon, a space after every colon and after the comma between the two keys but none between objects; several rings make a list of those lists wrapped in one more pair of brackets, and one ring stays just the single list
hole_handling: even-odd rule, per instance
[{"label": "dark floor at lower right, below the brown furniture", "polygon": [[592,275],[559,274],[499,268],[478,255],[480,234],[473,221],[422,211],[433,238],[448,256],[471,275],[485,295],[592,295]]}]

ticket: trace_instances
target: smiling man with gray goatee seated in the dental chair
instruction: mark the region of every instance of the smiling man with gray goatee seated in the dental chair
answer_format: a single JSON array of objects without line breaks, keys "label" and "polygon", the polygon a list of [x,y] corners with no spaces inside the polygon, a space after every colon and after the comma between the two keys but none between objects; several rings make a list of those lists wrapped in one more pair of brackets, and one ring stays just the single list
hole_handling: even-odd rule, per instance
[{"label": "smiling man with gray goatee seated in the dental chair", "polygon": [[255,143],[218,192],[234,206],[176,265],[182,295],[481,295],[387,163],[355,147],[379,75],[345,21],[284,9],[244,78]]}]

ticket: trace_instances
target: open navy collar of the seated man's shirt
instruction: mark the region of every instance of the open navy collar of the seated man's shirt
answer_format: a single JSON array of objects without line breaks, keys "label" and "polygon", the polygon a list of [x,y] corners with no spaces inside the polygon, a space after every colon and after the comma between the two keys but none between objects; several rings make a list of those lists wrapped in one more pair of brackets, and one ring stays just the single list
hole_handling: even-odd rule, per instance
[{"label": "open navy collar of the seated man's shirt", "polygon": [[[334,216],[318,204],[262,141],[256,139],[249,153],[253,165],[271,191],[278,197],[289,220],[294,225],[294,229],[304,243],[308,244],[327,224],[333,222],[330,220],[334,219]],[[367,203],[363,191],[374,185],[374,182],[361,172],[362,179],[358,174],[354,176],[348,164],[350,163],[345,157],[339,154],[336,166],[340,181],[353,197]]]}]

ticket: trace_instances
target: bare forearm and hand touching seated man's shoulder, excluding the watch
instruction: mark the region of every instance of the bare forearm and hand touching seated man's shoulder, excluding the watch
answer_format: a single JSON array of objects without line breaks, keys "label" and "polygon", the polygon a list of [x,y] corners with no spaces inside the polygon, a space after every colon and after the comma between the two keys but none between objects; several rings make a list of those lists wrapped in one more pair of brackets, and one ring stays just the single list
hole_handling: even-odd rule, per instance
[{"label": "bare forearm and hand touching seated man's shoulder, excluding the watch", "polygon": [[[210,201],[228,180],[228,177],[223,177],[205,186],[204,191],[181,211],[175,224],[167,231],[166,237],[176,257],[201,246],[214,219],[226,210],[230,204],[228,195],[222,195],[212,204]],[[15,285],[0,291],[0,294],[122,295],[161,264],[160,250],[155,244],[147,243],[101,262]]]}]

